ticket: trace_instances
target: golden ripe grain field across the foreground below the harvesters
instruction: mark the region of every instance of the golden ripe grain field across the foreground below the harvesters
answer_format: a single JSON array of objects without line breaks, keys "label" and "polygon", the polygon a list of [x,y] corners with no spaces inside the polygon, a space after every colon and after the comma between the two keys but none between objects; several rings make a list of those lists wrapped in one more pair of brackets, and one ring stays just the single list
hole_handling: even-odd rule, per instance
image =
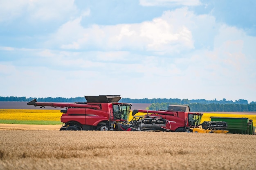
[{"label": "golden ripe grain field across the foreground below the harvesters", "polygon": [[254,169],[256,135],[0,131],[0,169]]}]

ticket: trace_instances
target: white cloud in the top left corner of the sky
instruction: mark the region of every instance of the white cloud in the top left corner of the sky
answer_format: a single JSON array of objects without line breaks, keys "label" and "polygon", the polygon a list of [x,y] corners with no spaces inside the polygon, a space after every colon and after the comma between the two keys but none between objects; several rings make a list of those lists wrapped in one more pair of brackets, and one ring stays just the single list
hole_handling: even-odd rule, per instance
[{"label": "white cloud in the top left corner of the sky", "polygon": [[2,0],[0,22],[24,17],[31,21],[63,20],[77,15],[74,0]]}]

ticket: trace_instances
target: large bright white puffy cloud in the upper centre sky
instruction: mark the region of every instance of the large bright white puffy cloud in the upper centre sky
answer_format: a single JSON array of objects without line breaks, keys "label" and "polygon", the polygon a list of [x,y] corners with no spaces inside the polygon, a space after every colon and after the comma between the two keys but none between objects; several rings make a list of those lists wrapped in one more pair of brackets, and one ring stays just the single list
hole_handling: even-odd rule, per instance
[{"label": "large bright white puffy cloud in the upper centre sky", "polygon": [[79,17],[63,24],[47,44],[60,44],[63,49],[180,52],[194,48],[192,33],[186,23],[190,15],[193,13],[184,8],[166,11],[161,17],[138,24],[94,24],[88,28],[81,26],[82,18]]}]

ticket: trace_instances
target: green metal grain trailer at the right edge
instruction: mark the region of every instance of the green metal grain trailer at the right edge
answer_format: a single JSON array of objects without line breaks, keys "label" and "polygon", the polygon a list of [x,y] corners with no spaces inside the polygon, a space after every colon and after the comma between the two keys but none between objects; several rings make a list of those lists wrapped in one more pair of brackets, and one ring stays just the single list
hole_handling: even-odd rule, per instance
[{"label": "green metal grain trailer at the right edge", "polygon": [[255,133],[255,127],[252,120],[249,118],[225,118],[225,117],[211,117],[211,121],[227,122],[227,129],[229,133],[249,134]]}]

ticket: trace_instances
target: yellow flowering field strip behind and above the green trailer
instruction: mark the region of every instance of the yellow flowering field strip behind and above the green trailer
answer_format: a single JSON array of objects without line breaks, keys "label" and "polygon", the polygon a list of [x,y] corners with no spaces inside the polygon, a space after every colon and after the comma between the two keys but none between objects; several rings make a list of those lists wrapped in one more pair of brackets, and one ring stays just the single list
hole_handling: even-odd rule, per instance
[{"label": "yellow flowering field strip behind and above the green trailer", "polygon": [[211,121],[210,117],[225,117],[225,118],[248,118],[252,119],[256,124],[256,115],[245,115],[245,114],[225,114],[225,113],[204,113],[202,116],[201,123],[204,121]]}]

